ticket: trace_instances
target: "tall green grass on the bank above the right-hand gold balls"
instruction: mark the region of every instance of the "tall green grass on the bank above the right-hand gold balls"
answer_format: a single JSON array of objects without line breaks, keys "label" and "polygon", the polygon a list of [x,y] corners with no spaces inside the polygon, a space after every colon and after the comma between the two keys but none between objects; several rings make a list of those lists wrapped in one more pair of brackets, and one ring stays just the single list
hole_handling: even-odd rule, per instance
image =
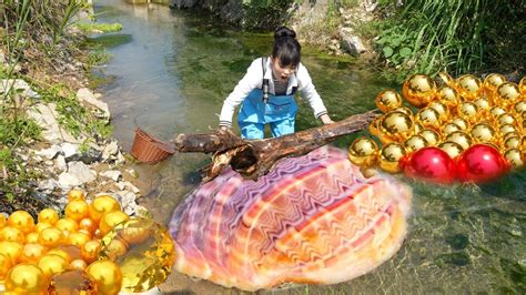
[{"label": "tall green grass on the bank above the right-hand gold balls", "polygon": [[399,8],[385,2],[381,11],[395,16],[374,26],[375,44],[396,81],[414,72],[525,70],[522,1],[408,0]]}]

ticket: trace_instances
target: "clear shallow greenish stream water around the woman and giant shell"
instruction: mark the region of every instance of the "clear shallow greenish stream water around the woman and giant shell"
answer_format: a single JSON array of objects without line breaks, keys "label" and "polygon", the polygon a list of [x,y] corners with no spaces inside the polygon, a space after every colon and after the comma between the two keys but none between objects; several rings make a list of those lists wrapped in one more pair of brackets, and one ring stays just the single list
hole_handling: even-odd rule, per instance
[{"label": "clear shallow greenish stream water around the woman and giant shell", "polygon": [[[250,62],[271,51],[270,34],[242,33],[216,20],[166,7],[97,1],[100,21],[121,22],[104,69],[117,80],[100,89],[113,114],[114,136],[129,149],[134,126],[162,140],[208,132],[218,124],[223,99]],[[104,40],[111,38],[104,37]],[[315,85],[336,120],[374,108],[377,92],[392,88],[353,60],[304,50]],[[398,88],[399,89],[399,88]],[[300,102],[297,129],[316,125]],[[340,142],[345,146],[352,139]],[[209,156],[179,154],[155,166],[135,165],[146,196],[142,203],[165,223],[200,182]],[[401,177],[402,181],[405,181]],[[526,173],[485,186],[414,187],[409,234],[402,250],[374,272],[332,286],[286,286],[262,293],[525,293]],[[165,292],[236,293],[173,274]]]}]

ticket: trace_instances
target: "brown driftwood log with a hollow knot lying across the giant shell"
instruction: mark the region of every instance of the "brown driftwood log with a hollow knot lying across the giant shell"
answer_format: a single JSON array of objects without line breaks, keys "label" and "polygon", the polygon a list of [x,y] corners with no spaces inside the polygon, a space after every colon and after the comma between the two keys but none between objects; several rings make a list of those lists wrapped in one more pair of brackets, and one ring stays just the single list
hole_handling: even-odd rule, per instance
[{"label": "brown driftwood log with a hollow knot lying across the giant shell", "polygon": [[218,176],[229,164],[244,177],[257,180],[280,159],[304,155],[340,136],[364,130],[376,116],[370,111],[273,139],[243,140],[230,130],[215,130],[208,134],[179,134],[173,143],[178,152],[213,153],[212,163],[202,170],[203,182]]}]

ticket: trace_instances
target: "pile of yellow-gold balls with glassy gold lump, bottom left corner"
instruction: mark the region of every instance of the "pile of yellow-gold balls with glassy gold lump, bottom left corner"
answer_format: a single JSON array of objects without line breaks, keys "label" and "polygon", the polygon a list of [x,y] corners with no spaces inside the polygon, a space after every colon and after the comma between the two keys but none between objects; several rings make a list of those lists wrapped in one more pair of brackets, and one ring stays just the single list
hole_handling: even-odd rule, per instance
[{"label": "pile of yellow-gold balls with glassy gold lump, bottom left corner", "polygon": [[130,217],[110,195],[70,191],[64,216],[52,208],[0,214],[3,294],[118,294],[163,283],[173,243],[159,224]]}]

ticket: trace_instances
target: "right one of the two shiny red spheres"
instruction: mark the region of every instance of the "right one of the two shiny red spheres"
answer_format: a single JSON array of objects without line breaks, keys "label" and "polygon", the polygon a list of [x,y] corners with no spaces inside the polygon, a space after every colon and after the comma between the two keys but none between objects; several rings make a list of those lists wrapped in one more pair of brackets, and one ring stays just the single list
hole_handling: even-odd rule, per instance
[{"label": "right one of the two shiny red spheres", "polygon": [[472,145],[457,161],[461,182],[488,182],[502,176],[508,169],[509,165],[498,150],[487,144]]}]

